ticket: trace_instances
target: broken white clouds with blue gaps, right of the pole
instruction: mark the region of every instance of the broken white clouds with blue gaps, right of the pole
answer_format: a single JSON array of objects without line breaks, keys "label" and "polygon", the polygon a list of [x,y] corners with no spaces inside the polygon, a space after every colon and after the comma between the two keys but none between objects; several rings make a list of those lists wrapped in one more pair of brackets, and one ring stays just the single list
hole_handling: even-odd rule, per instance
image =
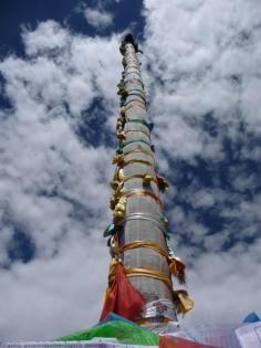
[{"label": "broken white clouds with blue gaps, right of the pole", "polygon": [[251,310],[261,313],[261,3],[145,0],[144,6],[153,139],[157,156],[171,160],[165,169],[176,190],[167,199],[179,233],[171,243],[188,262],[196,302],[184,325],[240,323]]}]

